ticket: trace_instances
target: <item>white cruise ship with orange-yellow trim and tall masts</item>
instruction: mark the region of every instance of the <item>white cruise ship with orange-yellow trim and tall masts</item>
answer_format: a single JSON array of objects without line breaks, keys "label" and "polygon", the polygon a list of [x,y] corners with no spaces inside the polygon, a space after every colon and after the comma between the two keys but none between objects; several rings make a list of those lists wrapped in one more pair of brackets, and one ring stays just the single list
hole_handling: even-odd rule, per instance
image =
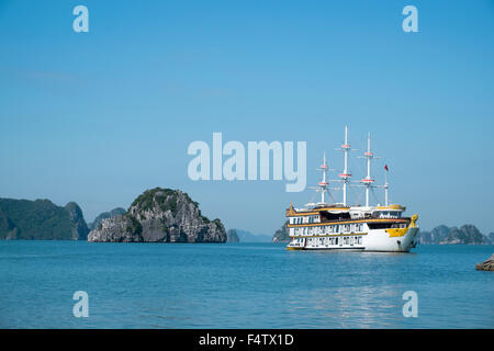
[{"label": "white cruise ship with orange-yellow trim and tall masts", "polygon": [[[367,138],[367,151],[361,156],[367,159],[367,176],[360,181],[351,181],[348,169],[351,148],[347,126],[345,141],[338,150],[344,152],[344,170],[339,179],[326,180],[328,166],[323,156],[319,168],[323,179],[314,188],[321,192],[321,202],[308,203],[303,208],[295,208],[292,203],[287,210],[287,227],[291,238],[287,249],[408,252],[415,248],[418,216],[406,217],[404,206],[389,204],[388,166],[384,166],[384,184],[374,184],[371,161],[375,156],[371,150],[370,134]],[[329,183],[336,183],[336,186],[329,186]],[[350,186],[359,188],[364,193],[364,206],[347,203]],[[370,205],[370,193],[377,188],[384,190],[384,204]],[[343,203],[326,203],[326,195],[332,197],[330,191],[343,191]]]}]

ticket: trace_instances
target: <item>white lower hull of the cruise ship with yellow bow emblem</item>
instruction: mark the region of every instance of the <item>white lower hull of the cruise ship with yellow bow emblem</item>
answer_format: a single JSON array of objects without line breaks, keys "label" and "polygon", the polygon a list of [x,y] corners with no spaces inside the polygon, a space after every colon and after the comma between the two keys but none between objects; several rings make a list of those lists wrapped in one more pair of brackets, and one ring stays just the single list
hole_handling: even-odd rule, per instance
[{"label": "white lower hull of the cruise ship with yellow bow emblem", "polygon": [[287,249],[408,252],[415,246],[418,227],[408,227],[405,230],[389,233],[386,229],[372,229],[351,235],[299,236],[292,238]]}]

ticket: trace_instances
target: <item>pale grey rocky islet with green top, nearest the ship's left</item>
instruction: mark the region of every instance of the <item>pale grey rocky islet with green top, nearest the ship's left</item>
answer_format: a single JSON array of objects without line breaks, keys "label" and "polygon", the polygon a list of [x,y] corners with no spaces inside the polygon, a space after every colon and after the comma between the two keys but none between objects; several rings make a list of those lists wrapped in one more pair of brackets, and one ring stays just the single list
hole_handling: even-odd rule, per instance
[{"label": "pale grey rocky islet with green top, nearest the ship's left", "polygon": [[226,233],[188,194],[156,188],[141,194],[124,215],[103,219],[88,241],[225,242]]}]

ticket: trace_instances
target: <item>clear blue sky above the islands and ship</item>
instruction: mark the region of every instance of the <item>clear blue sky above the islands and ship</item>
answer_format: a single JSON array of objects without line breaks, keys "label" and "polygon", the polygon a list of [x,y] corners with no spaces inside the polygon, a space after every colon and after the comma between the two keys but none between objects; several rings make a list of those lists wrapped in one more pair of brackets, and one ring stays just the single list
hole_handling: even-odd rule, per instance
[{"label": "clear blue sky above the islands and ship", "polygon": [[[78,4],[89,33],[72,30]],[[402,30],[407,4],[418,33]],[[424,229],[486,234],[493,82],[489,0],[0,0],[0,196],[76,201],[89,222],[146,189],[181,189],[227,228],[271,234],[313,194],[191,181],[189,144],[304,140],[312,184],[323,150],[341,169],[348,124],[353,148],[372,133],[378,181],[388,163],[390,199]]]}]

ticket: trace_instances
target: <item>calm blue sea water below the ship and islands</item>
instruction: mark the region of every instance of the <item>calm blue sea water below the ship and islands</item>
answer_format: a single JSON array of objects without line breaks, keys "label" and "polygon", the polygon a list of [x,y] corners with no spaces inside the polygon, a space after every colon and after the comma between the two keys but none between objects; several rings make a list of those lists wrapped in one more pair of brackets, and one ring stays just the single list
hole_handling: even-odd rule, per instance
[{"label": "calm blue sea water below the ship and islands", "polygon": [[[1,328],[494,328],[494,246],[0,241]],[[76,318],[76,291],[89,317]],[[418,294],[405,318],[403,293]]]}]

